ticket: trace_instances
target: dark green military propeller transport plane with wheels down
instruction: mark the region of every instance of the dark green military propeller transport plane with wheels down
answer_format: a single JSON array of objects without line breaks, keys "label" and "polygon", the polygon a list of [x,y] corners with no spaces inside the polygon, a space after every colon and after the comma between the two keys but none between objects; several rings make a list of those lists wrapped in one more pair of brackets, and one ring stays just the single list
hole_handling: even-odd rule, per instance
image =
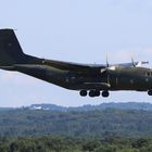
[{"label": "dark green military propeller transport plane with wheels down", "polygon": [[[39,59],[22,51],[13,29],[0,29],[0,68],[21,72],[60,87],[77,90],[81,97],[109,97],[109,91],[148,91],[152,96],[152,69],[147,62],[125,64],[77,64]],[[102,91],[102,93],[101,93]]]}]

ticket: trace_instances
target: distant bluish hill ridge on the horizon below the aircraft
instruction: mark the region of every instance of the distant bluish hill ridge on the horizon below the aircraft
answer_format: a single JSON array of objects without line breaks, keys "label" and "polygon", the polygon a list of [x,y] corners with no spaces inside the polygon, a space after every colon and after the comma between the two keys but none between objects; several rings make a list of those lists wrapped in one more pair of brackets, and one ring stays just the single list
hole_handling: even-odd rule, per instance
[{"label": "distant bluish hill ridge on the horizon below the aircraft", "polygon": [[106,110],[106,109],[117,109],[117,110],[144,110],[144,111],[152,111],[151,103],[138,103],[138,102],[122,102],[122,103],[101,103],[99,105],[84,105],[77,107],[66,107],[60,106],[55,104],[31,104],[27,106],[29,110],[51,110],[51,111],[59,111],[59,112],[68,112],[68,111],[94,111],[94,110]]}]

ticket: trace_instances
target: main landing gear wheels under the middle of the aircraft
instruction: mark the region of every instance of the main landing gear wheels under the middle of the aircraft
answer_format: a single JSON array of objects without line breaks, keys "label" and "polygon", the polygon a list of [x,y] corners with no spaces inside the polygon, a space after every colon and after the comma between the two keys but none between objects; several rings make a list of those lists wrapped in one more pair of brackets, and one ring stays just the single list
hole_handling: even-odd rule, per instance
[{"label": "main landing gear wheels under the middle of the aircraft", "polygon": [[[100,97],[100,91],[99,90],[90,90],[89,93],[87,92],[87,90],[81,90],[79,91],[79,94],[81,97],[87,97],[87,94],[89,94],[89,97],[93,98],[93,97]],[[107,98],[110,96],[109,91],[102,91],[102,97]]]}]

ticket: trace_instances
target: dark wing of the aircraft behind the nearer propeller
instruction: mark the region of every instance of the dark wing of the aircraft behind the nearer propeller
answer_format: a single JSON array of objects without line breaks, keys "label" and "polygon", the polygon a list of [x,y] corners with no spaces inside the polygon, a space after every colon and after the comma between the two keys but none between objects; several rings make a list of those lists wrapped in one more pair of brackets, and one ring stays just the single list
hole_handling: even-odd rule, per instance
[{"label": "dark wing of the aircraft behind the nearer propeller", "polygon": [[55,61],[55,60],[43,60],[43,64],[47,64],[49,66],[60,68],[60,69],[77,71],[77,72],[99,71],[102,68],[106,68],[105,65],[78,64],[78,63],[63,62],[63,61]]}]

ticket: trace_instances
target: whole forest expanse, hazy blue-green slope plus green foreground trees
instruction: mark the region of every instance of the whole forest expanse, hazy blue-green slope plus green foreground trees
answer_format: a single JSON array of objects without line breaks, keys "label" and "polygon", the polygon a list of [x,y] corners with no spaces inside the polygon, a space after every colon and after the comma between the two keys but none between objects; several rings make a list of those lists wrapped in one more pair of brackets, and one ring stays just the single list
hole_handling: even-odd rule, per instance
[{"label": "whole forest expanse, hazy blue-green slope plus green foreground trees", "polygon": [[0,111],[0,152],[152,152],[152,111]]}]

